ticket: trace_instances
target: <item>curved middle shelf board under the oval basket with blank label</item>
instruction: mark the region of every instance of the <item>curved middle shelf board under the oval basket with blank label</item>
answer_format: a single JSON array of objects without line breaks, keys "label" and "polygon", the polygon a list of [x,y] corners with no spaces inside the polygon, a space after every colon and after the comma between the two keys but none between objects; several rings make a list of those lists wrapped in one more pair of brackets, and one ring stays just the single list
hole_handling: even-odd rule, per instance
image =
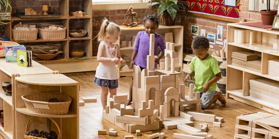
[{"label": "curved middle shelf board under the oval basket with blank label", "polygon": [[26,107],[16,108],[16,111],[26,115],[37,116],[37,117],[51,117],[51,118],[77,117],[77,114],[71,112],[69,112],[68,114],[43,114],[43,113],[30,111]]}]

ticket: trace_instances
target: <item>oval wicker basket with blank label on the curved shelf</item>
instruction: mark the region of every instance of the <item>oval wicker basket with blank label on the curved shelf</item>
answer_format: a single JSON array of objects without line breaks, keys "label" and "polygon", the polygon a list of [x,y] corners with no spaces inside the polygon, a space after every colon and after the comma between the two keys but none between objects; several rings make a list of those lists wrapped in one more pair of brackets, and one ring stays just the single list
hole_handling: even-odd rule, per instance
[{"label": "oval wicker basket with blank label on the curved shelf", "polygon": [[[22,95],[26,108],[33,112],[44,114],[67,114],[72,98],[64,93],[33,93]],[[57,98],[60,102],[48,102],[51,98]],[[49,109],[36,108],[33,104],[48,105]]]}]

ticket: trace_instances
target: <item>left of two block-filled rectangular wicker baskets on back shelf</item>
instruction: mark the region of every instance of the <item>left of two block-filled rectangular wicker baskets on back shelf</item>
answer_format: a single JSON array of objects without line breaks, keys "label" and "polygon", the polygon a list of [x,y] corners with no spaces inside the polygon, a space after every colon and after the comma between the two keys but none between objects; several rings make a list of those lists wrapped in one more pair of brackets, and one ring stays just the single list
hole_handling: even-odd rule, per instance
[{"label": "left of two block-filled rectangular wicker baskets on back shelf", "polygon": [[36,40],[38,36],[38,29],[36,30],[17,30],[12,29],[13,39],[16,41],[30,41]]}]

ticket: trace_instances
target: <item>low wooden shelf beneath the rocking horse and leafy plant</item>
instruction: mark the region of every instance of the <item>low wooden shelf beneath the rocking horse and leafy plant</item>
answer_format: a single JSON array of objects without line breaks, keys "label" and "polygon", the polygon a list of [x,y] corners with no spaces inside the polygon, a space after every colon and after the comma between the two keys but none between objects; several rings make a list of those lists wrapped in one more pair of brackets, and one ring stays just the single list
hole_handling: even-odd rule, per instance
[{"label": "low wooden shelf beneath the rocking horse and leafy plant", "polygon": [[[120,44],[121,41],[131,41],[131,38],[133,36],[137,36],[137,33],[139,31],[144,31],[144,26],[139,25],[138,27],[126,27],[126,26],[120,26],[121,34],[120,39],[116,42],[117,44]],[[157,29],[157,33],[162,35],[164,33],[173,32],[173,40],[175,43],[175,51],[178,52],[179,57],[179,65],[175,66],[177,71],[182,70],[182,59],[183,59],[183,26],[180,25],[174,25],[174,26],[162,26],[159,25],[159,28]],[[134,47],[122,47],[120,48],[121,55],[127,55],[131,58],[132,52]],[[120,76],[132,76],[133,70],[126,70],[126,71],[119,71],[120,68],[117,68],[117,74],[118,77]]]}]

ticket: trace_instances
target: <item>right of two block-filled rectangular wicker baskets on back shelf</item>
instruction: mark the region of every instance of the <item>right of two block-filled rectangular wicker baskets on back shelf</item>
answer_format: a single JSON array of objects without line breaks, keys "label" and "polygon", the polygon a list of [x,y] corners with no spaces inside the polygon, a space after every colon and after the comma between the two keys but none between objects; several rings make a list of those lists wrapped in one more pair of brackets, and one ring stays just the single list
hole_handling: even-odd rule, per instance
[{"label": "right of two block-filled rectangular wicker baskets on back shelf", "polygon": [[39,37],[44,40],[65,39],[66,27],[60,30],[39,29]]}]

